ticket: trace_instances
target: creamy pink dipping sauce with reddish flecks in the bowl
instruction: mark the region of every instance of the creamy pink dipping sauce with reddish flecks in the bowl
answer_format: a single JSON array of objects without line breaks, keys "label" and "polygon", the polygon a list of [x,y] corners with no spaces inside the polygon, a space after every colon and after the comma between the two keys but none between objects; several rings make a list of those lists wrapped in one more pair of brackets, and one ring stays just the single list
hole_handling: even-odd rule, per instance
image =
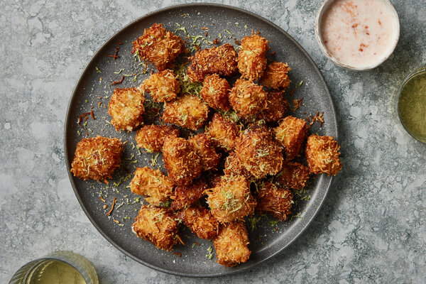
[{"label": "creamy pink dipping sauce with reddish flecks in the bowl", "polygon": [[393,52],[399,37],[398,15],[386,0],[335,0],[322,15],[320,34],[337,61],[367,69]]}]

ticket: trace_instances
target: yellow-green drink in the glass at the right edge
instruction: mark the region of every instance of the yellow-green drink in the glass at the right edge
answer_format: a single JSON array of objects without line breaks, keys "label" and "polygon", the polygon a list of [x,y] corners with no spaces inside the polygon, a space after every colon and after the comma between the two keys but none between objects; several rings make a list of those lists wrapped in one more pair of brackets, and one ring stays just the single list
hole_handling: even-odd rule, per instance
[{"label": "yellow-green drink in the glass at the right edge", "polygon": [[398,114],[405,129],[426,143],[426,70],[410,77],[401,87]]}]

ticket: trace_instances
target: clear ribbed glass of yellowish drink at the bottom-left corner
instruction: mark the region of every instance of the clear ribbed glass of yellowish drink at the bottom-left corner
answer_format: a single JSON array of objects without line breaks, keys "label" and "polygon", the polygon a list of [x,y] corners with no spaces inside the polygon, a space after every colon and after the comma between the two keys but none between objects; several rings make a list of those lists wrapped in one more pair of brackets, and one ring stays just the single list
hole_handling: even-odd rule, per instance
[{"label": "clear ribbed glass of yellowish drink at the bottom-left corner", "polygon": [[19,268],[9,284],[99,284],[86,258],[71,251],[55,251]]}]

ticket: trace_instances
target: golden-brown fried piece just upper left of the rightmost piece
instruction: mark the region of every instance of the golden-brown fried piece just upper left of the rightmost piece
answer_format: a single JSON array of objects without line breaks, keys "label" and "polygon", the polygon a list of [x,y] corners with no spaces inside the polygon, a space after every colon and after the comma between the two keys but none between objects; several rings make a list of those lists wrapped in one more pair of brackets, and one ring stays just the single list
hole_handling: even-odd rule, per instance
[{"label": "golden-brown fried piece just upper left of the rightmost piece", "polygon": [[284,147],[285,159],[296,158],[307,136],[306,121],[287,116],[273,131],[275,131],[275,139]]}]

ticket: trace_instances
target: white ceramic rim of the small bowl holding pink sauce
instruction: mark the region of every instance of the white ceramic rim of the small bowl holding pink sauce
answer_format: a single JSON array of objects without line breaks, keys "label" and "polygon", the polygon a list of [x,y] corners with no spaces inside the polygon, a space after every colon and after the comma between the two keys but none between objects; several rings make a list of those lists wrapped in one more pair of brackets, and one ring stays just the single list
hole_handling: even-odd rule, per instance
[{"label": "white ceramic rim of the small bowl holding pink sauce", "polygon": [[391,8],[391,11],[392,11],[393,17],[394,17],[394,21],[395,21],[394,33],[396,35],[395,36],[395,42],[393,43],[393,47],[389,50],[389,53],[387,55],[385,55],[381,60],[374,62],[371,65],[367,65],[366,67],[354,67],[354,66],[343,64],[342,62],[339,62],[339,60],[334,58],[334,56],[329,53],[329,51],[327,50],[327,48],[325,47],[325,45],[322,41],[321,31],[320,31],[322,16],[324,14],[324,11],[327,10],[328,6],[330,4],[332,4],[333,1],[335,1],[335,0],[325,0],[322,3],[320,10],[317,13],[317,18],[315,20],[315,35],[317,37],[317,41],[318,41],[318,44],[320,45],[322,53],[324,53],[324,55],[327,56],[327,58],[329,60],[331,60],[335,65],[337,65],[339,67],[344,67],[344,68],[349,69],[349,70],[357,70],[357,71],[371,70],[371,69],[377,67],[378,65],[381,65],[383,62],[385,62],[392,55],[393,50],[395,50],[396,45],[398,44],[399,37],[400,37],[400,21],[399,21],[398,13],[396,12],[395,7],[393,6],[392,2],[389,1],[389,0],[372,0],[372,1],[385,1],[386,4],[388,4]]}]

